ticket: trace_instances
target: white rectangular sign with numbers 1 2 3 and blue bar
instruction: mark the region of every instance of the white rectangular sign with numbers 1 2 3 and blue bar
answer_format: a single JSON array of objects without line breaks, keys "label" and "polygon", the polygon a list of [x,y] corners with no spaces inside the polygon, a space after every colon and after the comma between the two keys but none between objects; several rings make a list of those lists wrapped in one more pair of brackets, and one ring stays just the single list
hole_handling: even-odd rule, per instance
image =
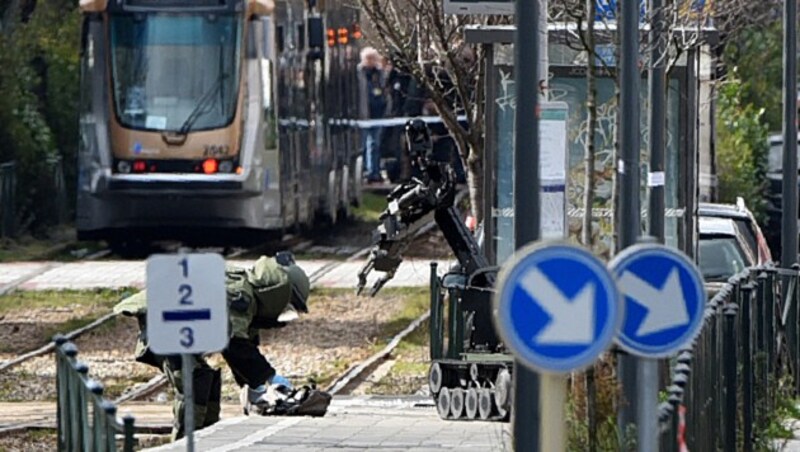
[{"label": "white rectangular sign with numbers 1 2 3 and blue bar", "polygon": [[153,352],[224,349],[225,294],[225,260],[218,254],[157,254],[147,259],[147,338]]}]

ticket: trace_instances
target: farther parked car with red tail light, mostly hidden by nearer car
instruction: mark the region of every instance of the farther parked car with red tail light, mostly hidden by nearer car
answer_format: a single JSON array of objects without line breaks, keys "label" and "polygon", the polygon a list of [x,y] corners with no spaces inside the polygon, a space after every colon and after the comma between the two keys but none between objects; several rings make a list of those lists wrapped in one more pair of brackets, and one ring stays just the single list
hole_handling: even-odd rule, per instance
[{"label": "farther parked car with red tail light, mostly hidden by nearer car", "polygon": [[[733,222],[736,232],[744,240],[745,247],[755,257],[758,265],[772,262],[772,251],[767,238],[758,226],[753,213],[747,209],[742,198],[736,204],[700,203],[697,214],[703,218],[727,218]],[[702,234],[702,228],[701,228]]]}]

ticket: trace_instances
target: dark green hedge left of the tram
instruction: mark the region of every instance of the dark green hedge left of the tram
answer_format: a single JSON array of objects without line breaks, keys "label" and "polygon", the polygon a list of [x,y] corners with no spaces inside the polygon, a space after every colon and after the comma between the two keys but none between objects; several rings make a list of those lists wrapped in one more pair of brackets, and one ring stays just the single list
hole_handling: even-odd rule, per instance
[{"label": "dark green hedge left of the tram", "polygon": [[13,23],[0,34],[0,162],[17,162],[17,223],[35,233],[58,220],[52,168],[58,157],[68,207],[75,198],[80,14],[77,2],[23,6],[27,15],[5,14]]}]

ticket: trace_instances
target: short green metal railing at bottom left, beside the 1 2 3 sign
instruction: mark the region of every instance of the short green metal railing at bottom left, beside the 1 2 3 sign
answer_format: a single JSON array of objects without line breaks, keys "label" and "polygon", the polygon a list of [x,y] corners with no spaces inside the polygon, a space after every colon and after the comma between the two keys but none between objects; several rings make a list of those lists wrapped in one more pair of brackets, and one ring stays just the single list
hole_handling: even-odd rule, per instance
[{"label": "short green metal railing at bottom left, beside the 1 2 3 sign", "polygon": [[78,348],[56,336],[56,387],[58,388],[58,450],[105,452],[133,451],[133,416],[117,418],[117,407],[103,397],[103,385],[89,378],[89,366],[78,361]]}]

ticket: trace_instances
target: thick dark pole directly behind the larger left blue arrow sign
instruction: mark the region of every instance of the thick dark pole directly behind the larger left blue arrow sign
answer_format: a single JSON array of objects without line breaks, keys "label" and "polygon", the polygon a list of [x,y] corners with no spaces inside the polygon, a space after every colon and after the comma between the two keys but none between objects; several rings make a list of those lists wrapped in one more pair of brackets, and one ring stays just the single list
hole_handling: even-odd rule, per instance
[{"label": "thick dark pole directly behind the larger left blue arrow sign", "polygon": [[[546,14],[546,12],[545,12]],[[539,1],[516,0],[514,39],[517,112],[514,119],[514,247],[539,240]],[[539,375],[514,363],[514,450],[537,452]]]}]

